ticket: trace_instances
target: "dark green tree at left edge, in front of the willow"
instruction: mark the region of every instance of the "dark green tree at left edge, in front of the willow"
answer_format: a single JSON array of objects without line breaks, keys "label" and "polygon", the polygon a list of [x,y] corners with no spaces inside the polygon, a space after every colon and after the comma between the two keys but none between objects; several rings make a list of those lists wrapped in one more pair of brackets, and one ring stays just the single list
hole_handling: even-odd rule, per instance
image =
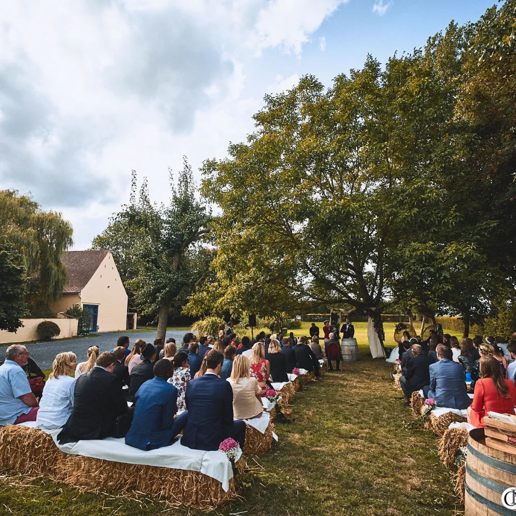
[{"label": "dark green tree at left edge, in front of the willow", "polygon": [[26,315],[27,278],[20,253],[9,244],[0,245],[0,330],[15,332]]}]

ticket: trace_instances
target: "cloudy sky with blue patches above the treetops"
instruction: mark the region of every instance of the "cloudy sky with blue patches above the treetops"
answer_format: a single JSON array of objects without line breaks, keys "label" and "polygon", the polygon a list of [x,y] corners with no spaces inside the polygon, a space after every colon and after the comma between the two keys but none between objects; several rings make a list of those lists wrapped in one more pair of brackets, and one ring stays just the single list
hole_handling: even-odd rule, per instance
[{"label": "cloudy sky with blue patches above the treetops", "polygon": [[16,0],[0,11],[0,188],[31,192],[87,249],[131,169],[166,201],[253,130],[266,93],[411,51],[494,0]]}]

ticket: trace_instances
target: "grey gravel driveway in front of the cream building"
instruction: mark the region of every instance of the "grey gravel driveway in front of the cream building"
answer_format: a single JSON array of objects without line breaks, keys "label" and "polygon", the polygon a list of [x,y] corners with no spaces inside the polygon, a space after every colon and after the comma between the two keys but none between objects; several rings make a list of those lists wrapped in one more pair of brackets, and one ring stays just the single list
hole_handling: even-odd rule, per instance
[{"label": "grey gravel driveway in front of the cream building", "polygon": [[[169,330],[167,331],[167,338],[175,338],[175,342],[180,344],[183,342],[183,335],[186,333],[185,330]],[[123,335],[123,333],[101,333],[98,337],[89,338],[77,338],[68,341],[52,341],[42,342],[41,344],[27,344],[27,351],[30,353],[41,369],[52,369],[52,362],[56,357],[57,353],[61,351],[73,351],[77,355],[77,363],[84,362],[86,360],[87,351],[90,346],[98,346],[100,352],[109,351],[113,349],[117,343],[117,338]],[[141,331],[138,333],[127,333],[131,339],[129,348],[133,347],[133,343],[139,338],[142,338],[146,342],[153,342],[156,336],[156,330],[152,331]],[[166,339],[165,339],[166,340]],[[0,360],[5,360],[5,350],[7,346],[0,347]]]}]

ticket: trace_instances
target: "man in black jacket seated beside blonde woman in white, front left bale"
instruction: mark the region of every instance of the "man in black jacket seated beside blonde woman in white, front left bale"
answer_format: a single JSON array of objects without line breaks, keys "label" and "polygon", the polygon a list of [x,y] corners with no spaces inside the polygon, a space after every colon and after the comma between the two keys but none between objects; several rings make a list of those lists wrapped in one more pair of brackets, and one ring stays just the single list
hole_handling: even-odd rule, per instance
[{"label": "man in black jacket seated beside blonde woman in white, front left bale", "polygon": [[114,434],[118,416],[127,413],[122,386],[112,374],[116,362],[115,353],[104,351],[95,367],[77,378],[72,413],[57,436],[60,444]]}]

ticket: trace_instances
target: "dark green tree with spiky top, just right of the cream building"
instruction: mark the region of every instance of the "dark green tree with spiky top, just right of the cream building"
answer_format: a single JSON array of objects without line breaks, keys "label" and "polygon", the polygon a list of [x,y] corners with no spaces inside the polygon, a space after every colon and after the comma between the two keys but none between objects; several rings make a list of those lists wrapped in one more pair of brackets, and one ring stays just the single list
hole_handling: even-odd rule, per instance
[{"label": "dark green tree with spiky top, just right of the cream building", "polygon": [[[159,338],[165,337],[171,308],[181,310],[196,283],[205,278],[212,259],[212,252],[202,246],[211,214],[196,197],[186,158],[176,184],[172,173],[170,180],[170,200],[158,206],[150,200],[147,180],[136,192],[133,173],[130,204],[122,206],[105,232],[94,240],[97,245],[109,244],[108,236],[118,235],[114,254],[117,265],[122,258],[125,284],[138,310],[157,314]],[[127,235],[123,237],[120,231],[127,231],[135,239],[127,241]]]}]

